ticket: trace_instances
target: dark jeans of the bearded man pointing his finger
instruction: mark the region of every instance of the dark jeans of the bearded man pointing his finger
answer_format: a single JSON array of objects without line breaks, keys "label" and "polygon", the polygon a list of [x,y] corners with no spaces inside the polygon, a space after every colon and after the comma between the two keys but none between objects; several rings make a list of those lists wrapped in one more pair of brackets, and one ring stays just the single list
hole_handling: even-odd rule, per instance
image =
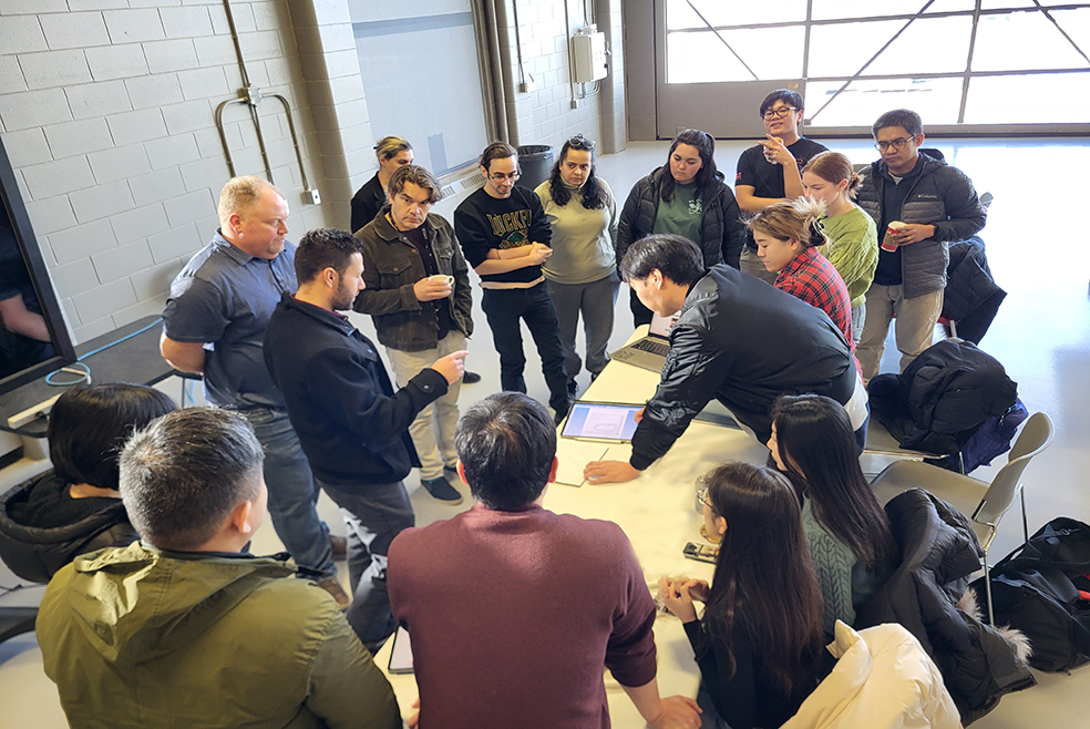
[{"label": "dark jeans of the bearded man pointing his finger", "polygon": [[415,525],[412,502],[400,481],[318,483],[340,506],[348,525],[348,575],[353,595],[345,617],[373,655],[398,628],[387,592],[387,555],[393,537]]}]

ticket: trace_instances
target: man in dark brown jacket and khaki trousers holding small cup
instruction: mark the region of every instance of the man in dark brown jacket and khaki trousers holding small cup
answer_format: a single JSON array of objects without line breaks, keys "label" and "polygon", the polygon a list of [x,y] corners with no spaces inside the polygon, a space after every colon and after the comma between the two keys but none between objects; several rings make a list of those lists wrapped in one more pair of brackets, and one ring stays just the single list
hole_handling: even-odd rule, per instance
[{"label": "man in dark brown jacket and khaki trousers holding small cup", "polygon": [[[452,352],[473,333],[469,266],[451,224],[430,213],[443,197],[439,179],[423,167],[399,167],[388,185],[390,202],[360,230],[363,283],[354,309],[370,314],[385,347],[398,387]],[[457,481],[454,427],[461,381],[420,411],[409,434],[420,456],[420,484],[438,501],[454,505]]]}]

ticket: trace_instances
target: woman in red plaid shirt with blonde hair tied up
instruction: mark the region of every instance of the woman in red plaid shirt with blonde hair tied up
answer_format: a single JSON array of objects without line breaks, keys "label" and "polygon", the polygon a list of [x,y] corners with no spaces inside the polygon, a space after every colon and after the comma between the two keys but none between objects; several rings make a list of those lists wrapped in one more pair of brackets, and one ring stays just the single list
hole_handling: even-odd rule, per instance
[{"label": "woman in red plaid shirt with blonde hair tied up", "polygon": [[827,314],[854,352],[847,287],[833,265],[818,253],[818,246],[825,243],[819,223],[824,212],[822,203],[800,197],[769,205],[750,218],[749,226],[757,255],[769,271],[777,274],[773,286]]}]

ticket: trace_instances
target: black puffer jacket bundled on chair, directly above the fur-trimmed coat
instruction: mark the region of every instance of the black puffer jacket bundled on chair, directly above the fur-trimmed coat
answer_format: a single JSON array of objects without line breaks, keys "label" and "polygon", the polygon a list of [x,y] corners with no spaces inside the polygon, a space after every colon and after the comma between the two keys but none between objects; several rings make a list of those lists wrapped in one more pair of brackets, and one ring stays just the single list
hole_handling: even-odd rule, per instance
[{"label": "black puffer jacket bundled on chair, directly above the fur-trimmed coat", "polygon": [[988,418],[1004,414],[1018,386],[1002,364],[968,342],[945,339],[901,374],[880,374],[867,386],[871,414],[902,448],[956,453]]}]

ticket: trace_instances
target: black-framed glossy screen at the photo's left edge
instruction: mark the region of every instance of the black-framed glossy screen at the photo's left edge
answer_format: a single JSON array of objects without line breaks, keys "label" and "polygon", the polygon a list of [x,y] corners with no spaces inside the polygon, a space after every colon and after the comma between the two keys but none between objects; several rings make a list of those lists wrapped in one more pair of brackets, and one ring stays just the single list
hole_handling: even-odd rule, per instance
[{"label": "black-framed glossy screen at the photo's left edge", "polygon": [[0,140],[0,394],[75,361],[30,216]]}]

